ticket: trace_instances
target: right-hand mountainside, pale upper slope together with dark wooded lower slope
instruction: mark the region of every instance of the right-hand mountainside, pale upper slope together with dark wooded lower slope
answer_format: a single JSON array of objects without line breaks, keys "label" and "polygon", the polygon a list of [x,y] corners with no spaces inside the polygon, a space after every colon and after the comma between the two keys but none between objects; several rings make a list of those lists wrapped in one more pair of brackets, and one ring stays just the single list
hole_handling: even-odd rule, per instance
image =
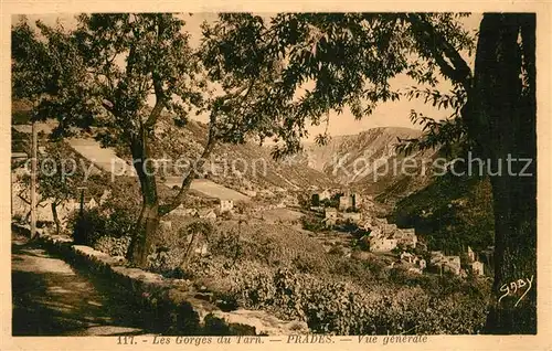
[{"label": "right-hand mountainside, pale upper slope together with dark wooded lower slope", "polygon": [[[417,151],[408,158],[393,152],[397,138],[420,135],[421,131],[407,128],[373,128],[333,137],[326,146],[310,145],[302,160],[336,177],[338,182],[372,195],[382,211],[388,212],[391,223],[416,228],[429,249],[458,253],[468,245],[475,251],[492,245],[492,195],[488,179],[436,174],[433,170],[442,171],[438,167],[445,160],[439,150]],[[443,159],[435,162],[437,158]],[[364,160],[372,166],[362,172]],[[354,173],[355,162],[360,174]],[[422,162],[426,164],[425,172]],[[412,176],[401,172],[403,166]]]}]

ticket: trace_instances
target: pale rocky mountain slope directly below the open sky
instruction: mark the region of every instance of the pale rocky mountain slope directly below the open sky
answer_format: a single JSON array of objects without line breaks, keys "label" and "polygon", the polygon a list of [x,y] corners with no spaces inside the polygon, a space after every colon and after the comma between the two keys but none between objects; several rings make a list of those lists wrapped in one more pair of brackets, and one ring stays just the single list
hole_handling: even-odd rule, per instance
[{"label": "pale rocky mountain slope directly below the open sky", "polygon": [[407,158],[395,152],[399,139],[420,135],[420,130],[408,128],[372,128],[358,135],[333,137],[325,146],[310,145],[304,159],[341,184],[374,196],[386,194],[380,200],[393,203],[431,181],[422,172],[422,163],[431,163],[437,151],[418,151]]}]

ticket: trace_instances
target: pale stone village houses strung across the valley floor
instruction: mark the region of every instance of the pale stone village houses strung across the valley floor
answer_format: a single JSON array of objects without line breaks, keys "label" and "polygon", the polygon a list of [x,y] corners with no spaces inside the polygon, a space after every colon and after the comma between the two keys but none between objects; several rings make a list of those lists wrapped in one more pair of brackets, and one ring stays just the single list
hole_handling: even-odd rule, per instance
[{"label": "pale stone village houses strung across the valley floor", "polygon": [[[99,166],[98,170],[100,168]],[[12,178],[12,215],[24,217],[28,215],[28,204],[22,201],[24,196],[21,194],[25,189],[17,181],[22,171],[19,169]],[[178,184],[174,181],[173,183]],[[168,182],[174,187],[173,183]],[[296,228],[301,227],[302,222],[301,230],[317,231],[305,226],[305,219],[310,217],[317,222],[318,230],[323,231],[321,235],[315,235],[316,237],[322,241],[328,237],[338,238],[331,245],[342,245],[347,257],[352,255],[351,247],[358,246],[373,257],[382,258],[388,263],[389,269],[402,267],[412,274],[448,273],[466,277],[468,274],[488,275],[491,265],[492,247],[480,255],[469,246],[466,252],[453,255],[442,251],[428,251],[424,240],[416,235],[414,228],[400,228],[396,224],[388,223],[385,217],[379,217],[378,204],[372,196],[363,196],[347,189],[318,190],[314,185],[306,191],[295,192],[279,187],[253,191],[251,187],[231,189],[208,179],[197,179],[192,189],[206,201],[198,206],[179,205],[168,219],[160,221],[161,228],[173,230],[172,222],[178,217],[195,217],[213,223],[250,219]],[[81,199],[68,199],[59,206],[57,216],[62,226],[67,226],[72,213],[97,209],[104,205],[110,195],[110,191],[106,189],[100,196],[94,198],[83,189]],[[51,200],[44,199],[38,206],[38,216],[43,223],[54,221],[51,203]],[[332,248],[331,245],[328,251]],[[208,251],[206,244],[203,244],[198,252],[206,254]]]}]

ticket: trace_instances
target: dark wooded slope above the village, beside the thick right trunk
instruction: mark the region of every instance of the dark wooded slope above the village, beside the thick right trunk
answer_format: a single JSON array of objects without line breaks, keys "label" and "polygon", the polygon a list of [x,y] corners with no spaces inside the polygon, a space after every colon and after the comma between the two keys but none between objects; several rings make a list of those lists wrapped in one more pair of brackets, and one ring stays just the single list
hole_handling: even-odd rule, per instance
[{"label": "dark wooded slope above the village, beside the thick right trunk", "polygon": [[415,227],[429,249],[476,252],[493,243],[492,192],[485,178],[437,177],[426,188],[399,201],[390,222]]}]

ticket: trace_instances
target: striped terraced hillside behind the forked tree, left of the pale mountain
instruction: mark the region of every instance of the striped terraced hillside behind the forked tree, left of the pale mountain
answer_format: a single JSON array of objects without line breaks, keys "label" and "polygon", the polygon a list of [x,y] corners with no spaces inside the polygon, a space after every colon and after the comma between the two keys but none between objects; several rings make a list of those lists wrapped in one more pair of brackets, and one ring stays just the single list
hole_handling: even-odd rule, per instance
[{"label": "striped terraced hillside behind the forked tree, left of the pale mountain", "polygon": [[[206,141],[208,126],[191,120],[184,128],[173,125],[169,116],[163,116],[156,126],[151,139],[151,156],[168,159],[166,178],[180,177],[182,171],[174,168],[176,162],[192,163],[201,156]],[[126,148],[118,148],[117,153],[129,160]],[[244,145],[216,145],[208,160],[205,178],[238,191],[258,190],[301,190],[309,185],[329,188],[335,185],[333,179],[325,172],[307,167],[307,164],[276,161],[268,147],[246,142]]]}]

